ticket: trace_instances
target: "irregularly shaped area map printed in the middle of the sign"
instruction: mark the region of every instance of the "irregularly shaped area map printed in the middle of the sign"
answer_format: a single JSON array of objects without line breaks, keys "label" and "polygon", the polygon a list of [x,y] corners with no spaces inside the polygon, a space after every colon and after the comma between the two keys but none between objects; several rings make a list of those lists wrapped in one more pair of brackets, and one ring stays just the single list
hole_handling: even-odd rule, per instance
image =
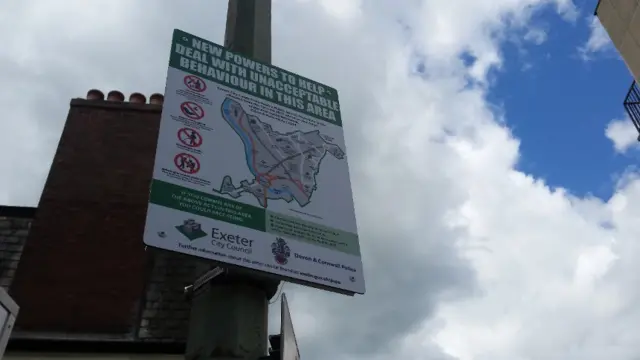
[{"label": "irregularly shaped area map printed in the middle of the sign", "polygon": [[239,186],[230,176],[222,179],[215,192],[234,199],[249,193],[266,208],[268,200],[296,201],[301,207],[311,202],[317,189],[316,176],[327,154],[344,159],[345,153],[318,130],[280,133],[271,125],[247,114],[240,103],[226,98],[222,103],[222,117],[240,137],[244,145],[247,166],[253,179],[245,179]]}]

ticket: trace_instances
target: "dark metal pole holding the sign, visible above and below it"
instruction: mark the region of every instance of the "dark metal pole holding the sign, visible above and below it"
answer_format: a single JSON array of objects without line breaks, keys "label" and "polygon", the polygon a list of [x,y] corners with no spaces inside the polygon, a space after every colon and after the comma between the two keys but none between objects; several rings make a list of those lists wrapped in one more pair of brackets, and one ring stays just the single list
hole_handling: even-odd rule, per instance
[{"label": "dark metal pole holding the sign, visible above and below it", "polygon": [[[271,0],[229,0],[225,46],[271,62]],[[279,281],[228,271],[192,296],[187,360],[256,360],[267,354],[269,299]]]}]

